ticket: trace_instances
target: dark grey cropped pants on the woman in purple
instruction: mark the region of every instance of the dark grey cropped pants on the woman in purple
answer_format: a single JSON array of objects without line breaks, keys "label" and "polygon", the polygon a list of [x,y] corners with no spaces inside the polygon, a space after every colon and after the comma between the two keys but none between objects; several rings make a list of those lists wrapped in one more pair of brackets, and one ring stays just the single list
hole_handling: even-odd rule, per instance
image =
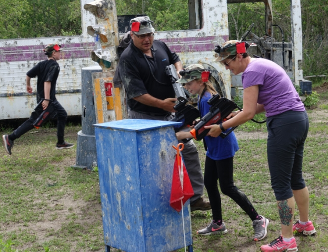
[{"label": "dark grey cropped pants on the woman in purple", "polygon": [[306,111],[286,111],[267,118],[267,160],[277,201],[293,197],[306,185],[302,176],[304,143],[309,130]]}]

